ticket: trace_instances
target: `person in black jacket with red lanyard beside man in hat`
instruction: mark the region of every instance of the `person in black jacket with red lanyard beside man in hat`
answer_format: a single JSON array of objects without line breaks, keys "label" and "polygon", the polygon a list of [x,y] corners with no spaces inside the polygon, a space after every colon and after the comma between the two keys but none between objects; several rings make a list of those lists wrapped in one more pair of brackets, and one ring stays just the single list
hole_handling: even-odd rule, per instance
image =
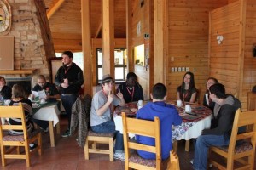
[{"label": "person in black jacket with red lanyard beside man in hat", "polygon": [[126,76],[126,82],[119,85],[117,91],[124,95],[125,102],[143,100],[143,88],[137,82],[137,75],[134,72],[129,72]]}]

